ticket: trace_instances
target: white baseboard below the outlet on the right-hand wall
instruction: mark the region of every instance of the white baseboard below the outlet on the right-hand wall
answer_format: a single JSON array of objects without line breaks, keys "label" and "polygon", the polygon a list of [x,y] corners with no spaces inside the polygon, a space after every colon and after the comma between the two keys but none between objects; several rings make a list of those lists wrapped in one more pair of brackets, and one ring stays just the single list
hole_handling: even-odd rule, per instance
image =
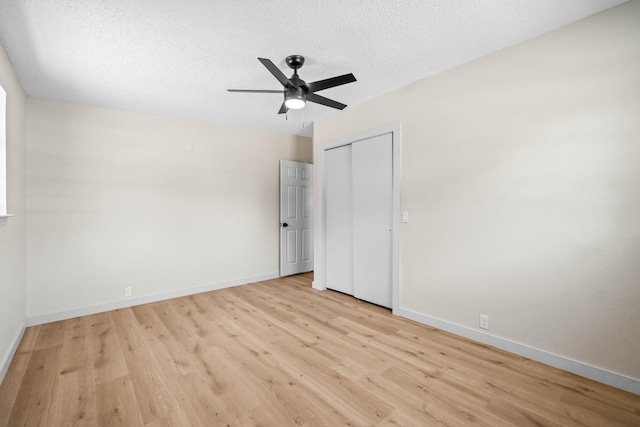
[{"label": "white baseboard below the outlet on the right-hand wall", "polygon": [[404,308],[393,314],[640,395],[640,380]]}]

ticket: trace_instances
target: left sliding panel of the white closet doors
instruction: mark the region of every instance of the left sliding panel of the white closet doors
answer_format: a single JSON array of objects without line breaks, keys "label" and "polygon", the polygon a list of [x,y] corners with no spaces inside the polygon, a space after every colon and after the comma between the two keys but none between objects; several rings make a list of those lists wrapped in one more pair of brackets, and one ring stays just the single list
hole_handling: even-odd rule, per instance
[{"label": "left sliding panel of the white closet doors", "polygon": [[325,153],[327,288],[353,295],[351,145]]}]

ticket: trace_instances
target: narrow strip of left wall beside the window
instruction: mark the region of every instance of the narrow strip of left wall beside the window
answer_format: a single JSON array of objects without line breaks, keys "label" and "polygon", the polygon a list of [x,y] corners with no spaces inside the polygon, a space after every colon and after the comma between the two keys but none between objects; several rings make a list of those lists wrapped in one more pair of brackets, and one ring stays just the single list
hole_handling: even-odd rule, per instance
[{"label": "narrow strip of left wall beside the window", "polygon": [[0,85],[7,93],[7,208],[0,226],[0,371],[26,316],[25,94],[0,45]]}]

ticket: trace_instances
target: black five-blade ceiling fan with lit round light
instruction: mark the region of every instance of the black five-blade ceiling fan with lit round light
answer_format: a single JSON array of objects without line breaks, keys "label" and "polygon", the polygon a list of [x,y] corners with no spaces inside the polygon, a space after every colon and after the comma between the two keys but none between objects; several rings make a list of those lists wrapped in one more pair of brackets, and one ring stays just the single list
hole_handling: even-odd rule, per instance
[{"label": "black five-blade ceiling fan with lit round light", "polygon": [[284,114],[289,109],[297,110],[303,108],[306,102],[315,102],[316,104],[326,105],[327,107],[337,108],[343,110],[346,105],[333,99],[325,98],[318,95],[319,92],[331,87],[340,86],[347,83],[353,83],[356,78],[353,74],[344,74],[342,76],[331,77],[324,80],[318,80],[317,82],[306,83],[298,76],[298,69],[304,65],[304,57],[301,55],[287,56],[286,62],[289,68],[293,69],[293,75],[291,78],[287,78],[282,71],[278,69],[268,59],[258,58],[258,61],[262,62],[267,70],[278,79],[278,81],[284,86],[283,90],[251,90],[251,89],[227,89],[229,92],[251,92],[251,93],[283,93],[284,102],[280,107],[278,114]]}]

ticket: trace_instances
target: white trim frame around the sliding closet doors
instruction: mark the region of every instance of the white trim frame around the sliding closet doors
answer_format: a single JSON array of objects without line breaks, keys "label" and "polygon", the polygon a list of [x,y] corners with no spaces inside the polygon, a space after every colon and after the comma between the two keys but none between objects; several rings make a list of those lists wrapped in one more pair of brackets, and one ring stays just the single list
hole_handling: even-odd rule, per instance
[{"label": "white trim frame around the sliding closet doors", "polygon": [[392,141],[392,167],[393,167],[393,192],[391,214],[391,307],[395,312],[400,308],[400,123],[392,123],[379,128],[358,132],[353,135],[337,138],[331,141],[319,143],[315,148],[316,180],[314,184],[316,192],[316,250],[314,262],[313,288],[327,289],[326,284],[326,187],[325,187],[325,153],[332,148],[353,144],[376,136],[391,134]]}]

